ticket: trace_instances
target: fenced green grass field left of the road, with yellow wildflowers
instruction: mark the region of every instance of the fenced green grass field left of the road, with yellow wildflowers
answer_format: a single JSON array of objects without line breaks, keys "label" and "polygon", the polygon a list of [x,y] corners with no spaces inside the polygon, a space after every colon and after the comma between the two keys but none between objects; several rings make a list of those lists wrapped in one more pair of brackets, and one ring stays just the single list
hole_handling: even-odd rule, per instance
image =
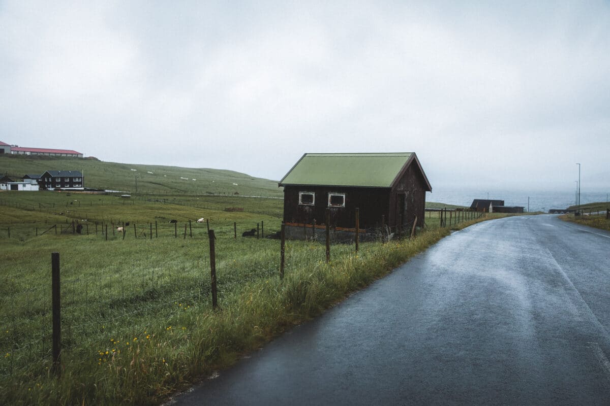
[{"label": "fenced green grass field left of the road, with yellow wildflowers", "polygon": [[[236,206],[243,211],[223,210]],[[323,243],[289,241],[281,281],[279,241],[234,239],[233,229],[264,222],[269,234],[281,213],[282,200],[233,195],[0,193],[2,403],[157,404],[450,232],[437,213],[427,214],[415,239],[361,243],[358,252],[333,245],[328,264]],[[187,220],[199,217],[217,236],[218,310],[210,303],[206,225],[192,222],[184,236]],[[170,219],[178,220],[178,237]],[[73,220],[88,225],[88,235],[59,232]],[[112,234],[123,222],[130,222],[124,239]],[[51,373],[52,252],[60,253],[62,275],[59,378]]]}]

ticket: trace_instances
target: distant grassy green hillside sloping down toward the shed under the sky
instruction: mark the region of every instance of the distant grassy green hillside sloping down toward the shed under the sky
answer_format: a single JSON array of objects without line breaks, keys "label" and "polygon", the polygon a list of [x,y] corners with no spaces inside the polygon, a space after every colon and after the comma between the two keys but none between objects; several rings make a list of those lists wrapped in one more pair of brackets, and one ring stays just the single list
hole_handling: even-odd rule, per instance
[{"label": "distant grassy green hillside sloping down toward the shed under the sky", "polygon": [[81,170],[85,187],[127,193],[283,197],[277,181],[232,170],[121,164],[95,158],[0,155],[0,175],[6,174],[14,180],[20,180],[26,173],[41,174],[45,170]]}]

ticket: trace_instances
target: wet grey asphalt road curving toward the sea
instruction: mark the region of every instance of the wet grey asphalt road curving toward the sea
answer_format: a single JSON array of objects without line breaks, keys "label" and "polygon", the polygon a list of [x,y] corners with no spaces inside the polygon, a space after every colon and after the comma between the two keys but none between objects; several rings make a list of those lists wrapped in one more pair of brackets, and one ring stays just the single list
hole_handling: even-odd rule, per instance
[{"label": "wet grey asphalt road curving toward the sea", "polygon": [[610,233],[452,234],[176,405],[610,405]]}]

